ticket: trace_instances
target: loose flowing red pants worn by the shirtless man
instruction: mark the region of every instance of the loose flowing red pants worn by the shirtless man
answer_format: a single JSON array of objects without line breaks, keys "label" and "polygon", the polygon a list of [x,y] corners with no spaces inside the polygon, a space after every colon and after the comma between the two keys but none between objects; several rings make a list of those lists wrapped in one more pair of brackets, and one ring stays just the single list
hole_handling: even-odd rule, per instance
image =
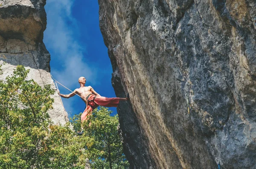
[{"label": "loose flowing red pants worn by the shirtless man", "polygon": [[[95,97],[95,95],[90,95],[88,97],[88,100],[91,100]],[[94,108],[97,108],[98,106],[105,106],[105,107],[117,107],[117,105],[119,104],[119,97],[112,97],[112,98],[108,98],[108,97],[102,97],[102,96],[97,96],[93,101],[89,101],[87,103],[87,107],[84,109],[83,114],[81,115],[81,121],[87,120],[88,119],[88,115],[90,115],[90,113],[93,111],[93,108],[90,107],[90,105],[92,105]],[[90,104],[90,105],[88,105]]]}]

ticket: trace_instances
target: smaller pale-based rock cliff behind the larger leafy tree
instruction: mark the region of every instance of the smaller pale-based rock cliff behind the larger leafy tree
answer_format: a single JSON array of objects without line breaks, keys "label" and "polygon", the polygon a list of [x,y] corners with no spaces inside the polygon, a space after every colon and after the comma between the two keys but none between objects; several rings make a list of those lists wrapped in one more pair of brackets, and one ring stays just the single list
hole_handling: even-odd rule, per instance
[{"label": "smaller pale-based rock cliff behind the larger leafy tree", "polygon": [[[43,43],[46,29],[46,0],[0,0],[0,64],[3,75],[12,74],[17,65],[30,69],[28,79],[34,79],[39,85],[55,85],[50,76],[50,54]],[[61,105],[57,93],[53,110],[49,115],[55,124],[68,121],[67,112]]]}]

